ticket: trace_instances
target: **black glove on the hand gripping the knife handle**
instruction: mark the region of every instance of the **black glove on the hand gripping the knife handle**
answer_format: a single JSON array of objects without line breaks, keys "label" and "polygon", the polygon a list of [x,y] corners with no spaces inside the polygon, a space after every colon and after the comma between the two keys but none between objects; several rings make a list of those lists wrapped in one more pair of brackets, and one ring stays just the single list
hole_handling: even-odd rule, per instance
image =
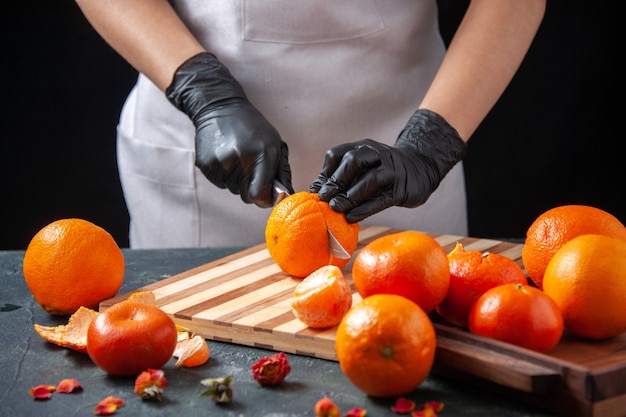
[{"label": "black glove on the hand gripping the knife handle", "polygon": [[293,192],[287,144],[215,56],[185,61],[166,95],[196,127],[196,166],[209,181],[259,207],[272,206],[274,179]]}]

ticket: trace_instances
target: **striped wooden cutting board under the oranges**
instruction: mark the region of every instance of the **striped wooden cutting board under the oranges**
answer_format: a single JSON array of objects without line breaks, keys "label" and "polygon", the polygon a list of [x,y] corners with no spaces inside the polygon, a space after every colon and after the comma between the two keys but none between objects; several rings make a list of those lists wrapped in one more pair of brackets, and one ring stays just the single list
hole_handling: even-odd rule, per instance
[{"label": "striped wooden cutting board under the oranges", "polygon": [[[357,251],[398,232],[364,226]],[[491,239],[430,234],[446,250],[501,253],[521,261],[522,245]],[[352,261],[344,268],[351,281]],[[283,273],[264,244],[251,247],[136,291],[154,292],[174,321],[207,339],[336,360],[335,328],[314,330],[293,315],[290,299],[301,279]],[[103,311],[128,297],[101,303]],[[353,291],[354,302],[361,297]],[[434,374],[484,384],[563,416],[626,416],[626,334],[602,342],[566,333],[549,354],[472,335],[431,314],[437,331]],[[511,323],[514,325],[514,323]]]}]

